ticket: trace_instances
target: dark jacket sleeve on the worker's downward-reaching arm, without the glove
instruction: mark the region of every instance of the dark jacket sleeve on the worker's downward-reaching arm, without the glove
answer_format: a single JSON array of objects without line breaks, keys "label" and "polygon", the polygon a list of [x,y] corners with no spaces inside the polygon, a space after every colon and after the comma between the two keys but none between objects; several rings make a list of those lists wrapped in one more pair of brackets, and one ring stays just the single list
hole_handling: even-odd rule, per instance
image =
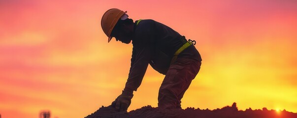
[{"label": "dark jacket sleeve on the worker's downward-reaching arm, without the glove", "polygon": [[149,62],[154,53],[154,33],[150,28],[138,30],[133,40],[131,67],[125,89],[136,91],[140,86]]}]

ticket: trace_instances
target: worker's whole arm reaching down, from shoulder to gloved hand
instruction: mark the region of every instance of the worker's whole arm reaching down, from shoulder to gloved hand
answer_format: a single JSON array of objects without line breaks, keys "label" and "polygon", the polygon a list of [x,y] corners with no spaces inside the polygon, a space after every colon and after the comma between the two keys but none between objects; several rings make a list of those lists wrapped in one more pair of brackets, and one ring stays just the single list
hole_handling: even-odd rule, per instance
[{"label": "worker's whole arm reaching down, from shoulder to gloved hand", "polygon": [[[140,27],[141,26],[141,27]],[[119,111],[126,111],[131,104],[133,91],[140,86],[147,66],[154,53],[154,30],[151,24],[139,25],[135,30],[133,39],[133,51],[131,67],[125,89],[119,95],[112,106]]]}]

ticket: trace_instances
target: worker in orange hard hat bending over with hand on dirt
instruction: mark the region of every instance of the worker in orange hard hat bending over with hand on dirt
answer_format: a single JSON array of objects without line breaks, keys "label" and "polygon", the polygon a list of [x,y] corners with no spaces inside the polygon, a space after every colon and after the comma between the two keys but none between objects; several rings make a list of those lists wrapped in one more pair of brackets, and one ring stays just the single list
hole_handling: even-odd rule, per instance
[{"label": "worker in orange hard hat bending over with hand on dirt", "polygon": [[154,20],[133,22],[126,12],[112,8],[101,19],[101,27],[116,41],[129,44],[132,41],[131,67],[126,86],[111,106],[127,111],[133,91],[140,86],[148,64],[165,78],[159,89],[160,109],[181,109],[181,99],[198,74],[201,57],[195,48],[196,41],[187,40],[175,30]]}]

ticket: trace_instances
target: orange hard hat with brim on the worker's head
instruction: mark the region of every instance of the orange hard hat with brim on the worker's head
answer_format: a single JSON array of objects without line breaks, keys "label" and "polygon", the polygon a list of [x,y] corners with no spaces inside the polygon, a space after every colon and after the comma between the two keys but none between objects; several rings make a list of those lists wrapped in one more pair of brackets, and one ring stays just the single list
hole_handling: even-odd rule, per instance
[{"label": "orange hard hat with brim on the worker's head", "polygon": [[107,10],[101,19],[101,28],[103,29],[104,33],[107,35],[108,37],[108,42],[111,40],[111,31],[113,30],[113,28],[115,27],[115,25],[117,24],[117,22],[119,21],[119,19],[126,14],[127,11],[122,11],[120,9],[117,8],[112,8]]}]

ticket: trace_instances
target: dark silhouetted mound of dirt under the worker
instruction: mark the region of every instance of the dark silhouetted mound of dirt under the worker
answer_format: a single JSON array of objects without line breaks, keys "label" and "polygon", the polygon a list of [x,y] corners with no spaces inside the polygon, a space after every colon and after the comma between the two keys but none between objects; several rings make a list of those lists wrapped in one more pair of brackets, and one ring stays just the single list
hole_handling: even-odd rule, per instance
[{"label": "dark silhouetted mound of dirt under the worker", "polygon": [[245,111],[238,111],[236,103],[232,106],[226,106],[222,109],[215,110],[200,110],[195,108],[181,109],[158,109],[151,106],[145,106],[140,109],[128,112],[116,112],[111,107],[102,106],[93,114],[85,118],[297,118],[297,113],[267,110],[252,110],[251,108]]}]

